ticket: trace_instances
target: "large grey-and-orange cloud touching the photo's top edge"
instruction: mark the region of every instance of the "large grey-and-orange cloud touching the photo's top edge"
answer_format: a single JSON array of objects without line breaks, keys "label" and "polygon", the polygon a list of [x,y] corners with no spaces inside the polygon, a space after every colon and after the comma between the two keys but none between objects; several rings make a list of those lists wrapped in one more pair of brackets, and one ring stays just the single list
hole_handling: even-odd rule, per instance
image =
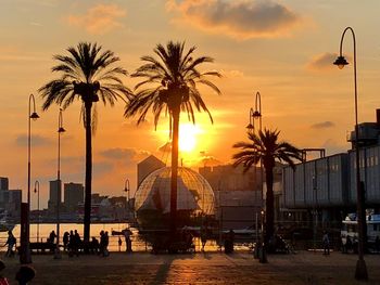
[{"label": "large grey-and-orange cloud touching the photo's top edge", "polygon": [[269,0],[167,0],[166,7],[180,13],[180,22],[239,39],[288,36],[303,22],[287,7]]}]

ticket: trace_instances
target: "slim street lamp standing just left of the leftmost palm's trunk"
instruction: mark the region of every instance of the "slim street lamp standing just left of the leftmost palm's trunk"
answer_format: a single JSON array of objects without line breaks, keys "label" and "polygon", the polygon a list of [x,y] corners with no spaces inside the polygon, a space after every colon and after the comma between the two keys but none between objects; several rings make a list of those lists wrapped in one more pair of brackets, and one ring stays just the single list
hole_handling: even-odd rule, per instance
[{"label": "slim street lamp standing just left of the leftmost palm's trunk", "polygon": [[61,259],[61,251],[60,251],[60,207],[61,207],[61,133],[65,132],[66,130],[63,128],[63,116],[62,116],[62,108],[60,108],[60,113],[58,116],[58,171],[56,171],[56,182],[58,182],[58,189],[56,189],[56,248],[54,254],[54,259]]}]

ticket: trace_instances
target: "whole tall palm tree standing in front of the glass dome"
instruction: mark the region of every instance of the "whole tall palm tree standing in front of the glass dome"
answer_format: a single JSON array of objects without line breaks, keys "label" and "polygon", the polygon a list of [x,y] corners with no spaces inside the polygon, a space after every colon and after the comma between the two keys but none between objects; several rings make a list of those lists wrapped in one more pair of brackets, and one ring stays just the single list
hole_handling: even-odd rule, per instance
[{"label": "whole tall palm tree standing in front of the glass dome", "polygon": [[177,211],[177,176],[178,176],[178,134],[180,113],[186,112],[189,120],[195,122],[194,109],[208,113],[198,85],[205,85],[220,94],[219,89],[207,78],[220,77],[217,72],[200,72],[203,63],[212,63],[208,56],[193,57],[195,47],[185,51],[185,42],[169,41],[166,47],[157,44],[153,50],[154,56],[142,56],[143,64],[132,74],[142,78],[136,85],[136,96],[125,111],[126,117],[139,116],[138,124],[145,119],[151,108],[155,127],[162,113],[169,115],[169,129],[173,131],[172,142],[172,178],[170,178],[170,230],[176,229]]}]

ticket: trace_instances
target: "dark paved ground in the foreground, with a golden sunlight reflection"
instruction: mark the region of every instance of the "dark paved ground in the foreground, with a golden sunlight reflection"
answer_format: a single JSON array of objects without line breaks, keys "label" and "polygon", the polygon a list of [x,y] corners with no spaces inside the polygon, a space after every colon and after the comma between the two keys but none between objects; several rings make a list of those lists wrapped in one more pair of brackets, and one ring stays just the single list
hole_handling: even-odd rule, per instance
[{"label": "dark paved ground in the foreground, with a golden sunlight reflection", "polygon": [[[20,267],[17,258],[3,258],[3,275],[11,284]],[[369,281],[354,280],[356,255],[299,251],[271,255],[259,263],[249,252],[225,255],[151,255],[112,252],[107,258],[80,256],[54,260],[50,255],[33,256],[37,271],[30,284],[380,284],[380,255],[366,256]]]}]

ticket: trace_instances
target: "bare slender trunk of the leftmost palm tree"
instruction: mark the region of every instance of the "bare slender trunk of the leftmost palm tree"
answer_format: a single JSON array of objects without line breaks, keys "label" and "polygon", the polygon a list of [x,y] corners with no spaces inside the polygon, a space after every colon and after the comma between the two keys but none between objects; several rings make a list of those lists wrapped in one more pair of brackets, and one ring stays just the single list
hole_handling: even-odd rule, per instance
[{"label": "bare slender trunk of the leftmost palm tree", "polygon": [[91,180],[92,180],[92,137],[91,137],[92,102],[85,102],[86,113],[86,178],[85,178],[85,219],[84,242],[90,241],[91,224]]}]

